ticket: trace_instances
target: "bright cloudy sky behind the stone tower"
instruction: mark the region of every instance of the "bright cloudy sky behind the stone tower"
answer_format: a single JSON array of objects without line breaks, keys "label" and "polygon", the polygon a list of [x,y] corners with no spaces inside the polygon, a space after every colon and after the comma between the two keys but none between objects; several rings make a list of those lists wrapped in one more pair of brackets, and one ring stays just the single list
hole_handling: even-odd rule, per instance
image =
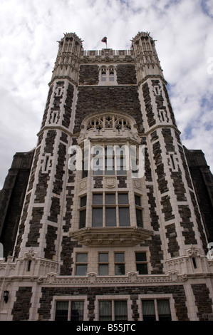
[{"label": "bright cloudy sky behind the stone tower", "polygon": [[1,0],[0,189],[13,155],[36,146],[56,41],[123,50],[138,31],[157,40],[182,143],[213,172],[213,0]]}]

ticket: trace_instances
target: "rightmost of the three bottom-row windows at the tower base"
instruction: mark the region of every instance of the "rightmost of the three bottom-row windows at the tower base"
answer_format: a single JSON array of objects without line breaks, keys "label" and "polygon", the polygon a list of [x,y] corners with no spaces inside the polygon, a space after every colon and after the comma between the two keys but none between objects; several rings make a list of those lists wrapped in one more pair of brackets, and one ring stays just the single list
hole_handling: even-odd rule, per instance
[{"label": "rightmost of the three bottom-row windows at the tower base", "polygon": [[170,300],[142,300],[142,319],[143,321],[172,321]]}]

